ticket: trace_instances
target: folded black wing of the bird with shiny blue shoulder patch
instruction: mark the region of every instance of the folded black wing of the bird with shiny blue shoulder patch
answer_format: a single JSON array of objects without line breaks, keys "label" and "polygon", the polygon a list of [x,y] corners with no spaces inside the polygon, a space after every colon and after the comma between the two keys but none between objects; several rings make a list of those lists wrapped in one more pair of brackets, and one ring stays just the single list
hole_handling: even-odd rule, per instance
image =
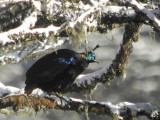
[{"label": "folded black wing of the bird with shiny blue shoulder patch", "polygon": [[60,57],[48,59],[47,61],[41,59],[27,71],[26,83],[31,81],[46,82],[53,80],[56,75],[62,73],[69,65],[74,64],[74,61],[74,57]]}]

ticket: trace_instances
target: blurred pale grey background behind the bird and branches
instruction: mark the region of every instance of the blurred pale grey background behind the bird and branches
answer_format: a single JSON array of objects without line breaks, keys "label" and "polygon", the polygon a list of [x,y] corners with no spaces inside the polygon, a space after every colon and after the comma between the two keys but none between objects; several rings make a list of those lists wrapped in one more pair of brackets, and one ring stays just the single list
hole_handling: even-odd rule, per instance
[{"label": "blurred pale grey background behind the bird and branches", "polygon": [[[124,29],[115,29],[110,34],[92,33],[88,36],[89,48],[94,48],[97,44],[102,47],[96,51],[97,60],[100,64],[91,64],[87,71],[93,72],[103,65],[110,64],[119,49]],[[160,100],[160,38],[157,41],[152,36],[152,30],[148,26],[143,27],[140,40],[134,43],[133,52],[127,65],[127,78],[125,81],[115,80],[111,87],[105,88],[98,85],[93,93],[92,99],[97,101],[110,102],[146,102],[159,106]],[[80,51],[83,51],[81,49]],[[34,61],[21,65],[12,64],[0,66],[0,82],[5,85],[24,88],[25,73]],[[81,94],[67,94],[68,96],[85,99]],[[107,116],[97,116],[89,114],[91,120],[106,120]],[[79,115],[72,111],[51,110],[47,113],[38,112],[30,116],[0,115],[1,119],[12,120],[83,120],[85,115]],[[140,120],[140,118],[139,118]],[[145,118],[143,118],[145,120]]]}]

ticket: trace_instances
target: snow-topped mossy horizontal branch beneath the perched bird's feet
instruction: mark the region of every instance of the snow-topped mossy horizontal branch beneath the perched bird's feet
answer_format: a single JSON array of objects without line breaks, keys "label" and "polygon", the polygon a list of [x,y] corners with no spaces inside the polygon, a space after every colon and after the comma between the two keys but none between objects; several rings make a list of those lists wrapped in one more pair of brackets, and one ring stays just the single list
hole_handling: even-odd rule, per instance
[{"label": "snow-topped mossy horizontal branch beneath the perched bird's feet", "polygon": [[11,95],[0,98],[0,112],[11,114],[14,111],[20,114],[34,113],[41,109],[72,110],[78,113],[93,112],[96,114],[108,115],[118,120],[129,120],[138,116],[146,116],[151,120],[160,119],[160,110],[149,103],[111,103],[97,102],[68,97],[56,96],[26,96]]}]

